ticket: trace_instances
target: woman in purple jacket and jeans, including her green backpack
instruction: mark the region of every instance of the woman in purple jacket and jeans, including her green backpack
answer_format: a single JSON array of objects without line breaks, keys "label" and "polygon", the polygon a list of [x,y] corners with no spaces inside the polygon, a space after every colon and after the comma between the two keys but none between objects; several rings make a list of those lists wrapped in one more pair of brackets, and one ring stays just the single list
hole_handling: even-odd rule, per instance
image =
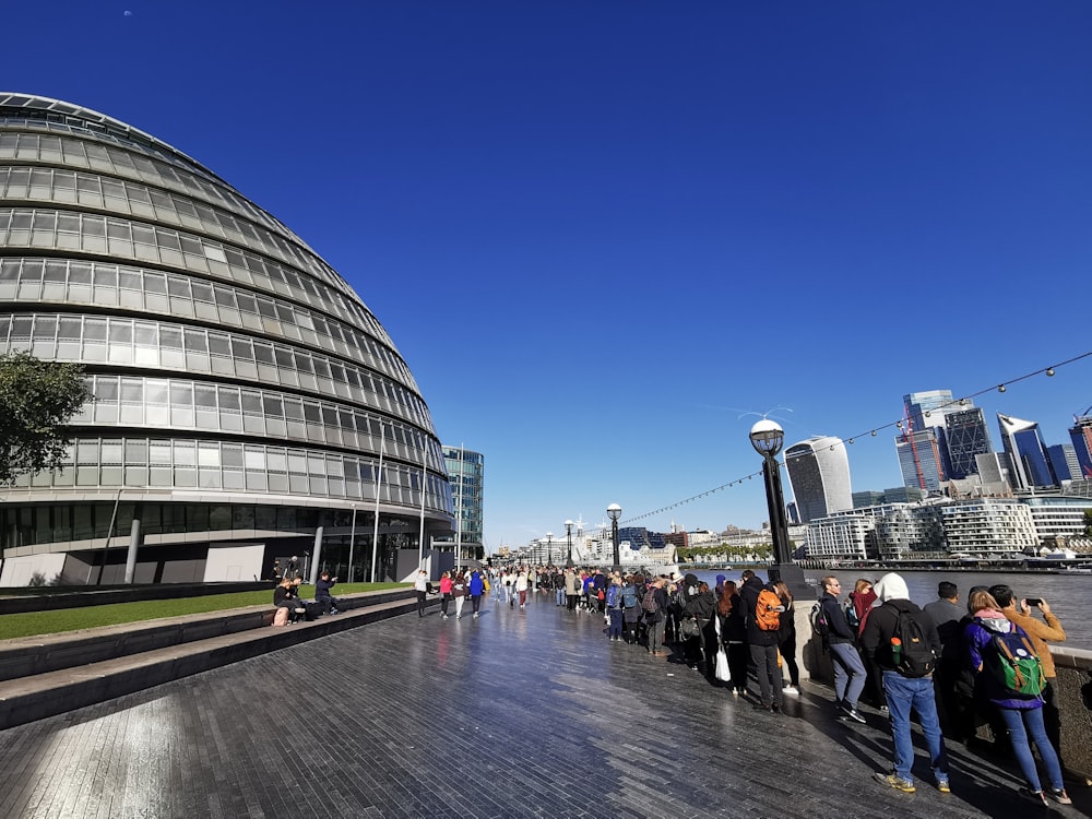
[{"label": "woman in purple jacket and jeans, including her green backpack", "polygon": [[[986,698],[997,707],[1009,731],[1012,751],[1028,781],[1028,788],[1022,788],[1021,794],[1037,805],[1049,804],[1040,784],[1031,739],[1035,741],[1038,756],[1046,765],[1051,798],[1061,805],[1072,804],[1061,779],[1058,753],[1046,737],[1041,693],[1042,664],[1028,634],[1014,622],[1009,622],[989,592],[972,593],[969,607],[974,619],[968,624],[963,636],[971,655],[971,667],[981,678]],[[1014,661],[1018,655],[1021,657],[1019,663]],[[1020,669],[1020,673],[1016,674],[1013,668]]]}]

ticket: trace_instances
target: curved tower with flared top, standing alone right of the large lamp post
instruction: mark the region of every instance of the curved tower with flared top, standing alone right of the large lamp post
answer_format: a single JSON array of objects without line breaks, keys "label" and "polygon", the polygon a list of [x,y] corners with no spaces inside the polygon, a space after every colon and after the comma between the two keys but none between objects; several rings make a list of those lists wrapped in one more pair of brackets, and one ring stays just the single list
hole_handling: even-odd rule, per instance
[{"label": "curved tower with flared top, standing alone right of the large lamp post", "polygon": [[850,459],[841,438],[815,436],[794,443],[785,450],[785,468],[802,523],[853,509]]}]

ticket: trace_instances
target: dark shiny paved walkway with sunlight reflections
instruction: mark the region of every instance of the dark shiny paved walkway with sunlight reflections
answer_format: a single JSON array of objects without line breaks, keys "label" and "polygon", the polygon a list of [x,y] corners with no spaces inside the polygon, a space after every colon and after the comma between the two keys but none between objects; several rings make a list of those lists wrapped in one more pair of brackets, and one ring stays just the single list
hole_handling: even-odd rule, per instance
[{"label": "dark shiny paved walkway with sunlight reflections", "polygon": [[[467,610],[470,606],[467,606]],[[769,715],[603,620],[489,603],[364,626],[0,732],[3,817],[1024,817],[965,751],[951,795],[870,779],[886,721],[805,686]],[[1089,790],[1058,815],[1090,814]]]}]

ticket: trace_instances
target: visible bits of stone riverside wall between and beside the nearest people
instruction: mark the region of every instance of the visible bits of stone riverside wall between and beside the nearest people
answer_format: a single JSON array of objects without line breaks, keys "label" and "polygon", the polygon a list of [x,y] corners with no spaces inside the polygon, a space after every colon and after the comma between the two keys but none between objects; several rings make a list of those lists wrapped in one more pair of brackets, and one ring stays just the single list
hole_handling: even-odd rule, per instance
[{"label": "visible bits of stone riverside wall between and beside the nearest people", "polygon": [[[822,640],[811,633],[810,602],[804,609],[796,612],[796,662],[800,676],[833,686],[830,653],[822,650]],[[1051,655],[1058,675],[1054,687],[1061,714],[1061,758],[1070,773],[1092,784],[1092,651],[1051,645]],[[993,738],[988,725],[982,726],[980,733],[984,738]]]}]

